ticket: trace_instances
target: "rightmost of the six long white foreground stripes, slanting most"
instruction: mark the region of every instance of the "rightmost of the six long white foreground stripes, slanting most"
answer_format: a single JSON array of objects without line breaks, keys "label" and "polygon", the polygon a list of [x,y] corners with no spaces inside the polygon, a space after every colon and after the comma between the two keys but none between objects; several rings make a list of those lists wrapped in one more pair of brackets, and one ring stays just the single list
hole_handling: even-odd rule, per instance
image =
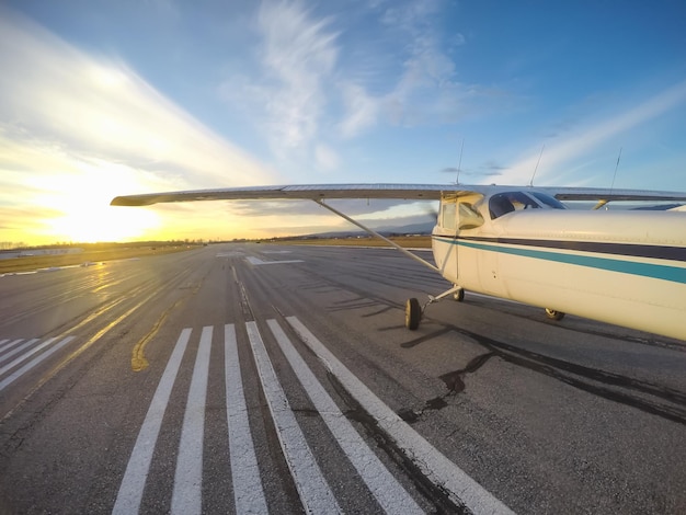
[{"label": "rightmost of the six long white foreground stripes, slanting most", "polygon": [[441,454],[424,437],[386,405],[355,377],[296,317],[287,318],[302,341],[317,354],[331,373],[359,404],[374,416],[397,445],[435,484],[450,494],[456,503],[465,504],[475,514],[513,513],[453,461]]}]

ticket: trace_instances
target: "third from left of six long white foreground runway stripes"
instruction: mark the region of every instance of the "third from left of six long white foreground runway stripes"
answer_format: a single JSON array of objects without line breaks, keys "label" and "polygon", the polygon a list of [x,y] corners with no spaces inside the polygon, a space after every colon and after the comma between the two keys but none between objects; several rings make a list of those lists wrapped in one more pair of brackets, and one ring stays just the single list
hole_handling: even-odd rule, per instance
[{"label": "third from left of six long white foreground runway stripes", "polygon": [[226,408],[229,425],[229,457],[233,480],[233,500],[238,515],[267,513],[264,488],[250,433],[248,407],[238,358],[235,325],[224,327]]}]

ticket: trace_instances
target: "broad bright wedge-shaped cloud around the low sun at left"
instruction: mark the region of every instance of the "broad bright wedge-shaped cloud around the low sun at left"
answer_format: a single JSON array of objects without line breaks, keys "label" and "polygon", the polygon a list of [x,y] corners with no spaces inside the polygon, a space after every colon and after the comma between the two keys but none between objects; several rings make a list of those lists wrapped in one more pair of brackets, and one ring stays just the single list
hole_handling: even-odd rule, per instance
[{"label": "broad bright wedge-shaped cloud around the low sun at left", "polygon": [[122,210],[108,214],[115,194],[270,182],[270,170],[125,64],[80,52],[4,9],[1,14],[0,206],[19,198],[39,206],[38,217],[60,211],[76,228],[75,216],[89,216],[83,205],[93,217],[124,222]]}]

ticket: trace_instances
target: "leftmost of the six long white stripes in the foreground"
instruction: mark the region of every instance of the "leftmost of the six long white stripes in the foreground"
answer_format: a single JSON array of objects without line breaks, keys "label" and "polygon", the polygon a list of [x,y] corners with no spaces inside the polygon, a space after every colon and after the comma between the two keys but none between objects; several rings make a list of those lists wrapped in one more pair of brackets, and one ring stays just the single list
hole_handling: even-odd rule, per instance
[{"label": "leftmost of the six long white stripes in the foreground", "polygon": [[146,487],[148,471],[150,470],[155,445],[157,444],[164,411],[169,403],[169,397],[171,396],[172,387],[176,380],[176,374],[190,337],[191,329],[186,328],[181,332],[174,351],[167,363],[167,368],[164,368],[160,384],[155,391],[155,396],[152,396],[150,408],[148,408],[148,413],[140,427],[140,433],[138,433],[136,445],[134,446],[128,465],[126,466],[126,472],[124,472],[124,479],[122,479],[122,484],[119,485],[119,492],[114,503],[114,508],[112,510],[114,515],[129,515],[138,513],[140,508],[142,491]]}]

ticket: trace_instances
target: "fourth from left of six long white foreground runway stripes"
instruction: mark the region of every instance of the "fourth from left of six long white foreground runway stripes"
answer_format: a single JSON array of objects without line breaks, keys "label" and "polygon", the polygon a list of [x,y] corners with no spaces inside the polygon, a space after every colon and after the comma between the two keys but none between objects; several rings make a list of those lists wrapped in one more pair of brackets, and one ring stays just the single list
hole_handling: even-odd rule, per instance
[{"label": "fourth from left of six long white foreground runway stripes", "polygon": [[310,514],[341,513],[341,507],[322,476],[312,450],[307,445],[295,414],[290,410],[286,393],[276,378],[262,336],[260,336],[258,324],[247,322],[245,328],[258,365],[264,397],[267,400],[278,440],[305,512]]}]

